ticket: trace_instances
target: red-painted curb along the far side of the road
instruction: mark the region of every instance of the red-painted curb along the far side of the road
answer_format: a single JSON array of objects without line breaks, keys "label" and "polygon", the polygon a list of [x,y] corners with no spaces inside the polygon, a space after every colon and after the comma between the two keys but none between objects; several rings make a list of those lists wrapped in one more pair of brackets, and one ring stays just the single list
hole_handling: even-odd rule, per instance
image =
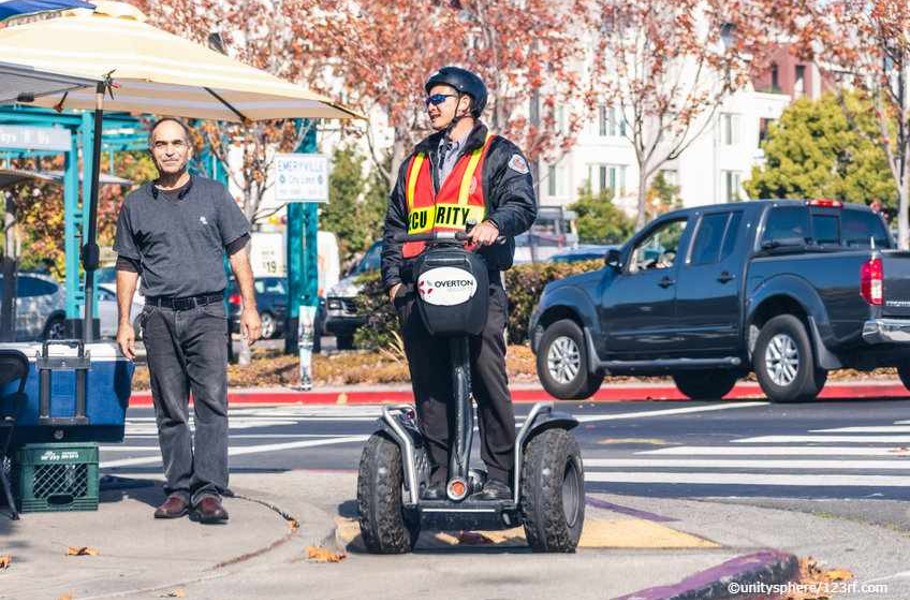
[{"label": "red-painted curb along the far side of the road", "polygon": [[[822,390],[820,398],[895,398],[908,397],[910,392],[900,384],[845,383],[834,384]],[[761,388],[754,383],[739,384],[725,396],[726,400],[753,398],[764,400]],[[577,402],[645,402],[649,400],[684,401],[687,398],[672,385],[654,386],[610,386],[604,385],[593,397]],[[512,390],[513,402],[547,402],[555,400],[543,388]],[[228,394],[231,404],[408,404],[414,401],[409,390],[333,390],[310,392],[288,391],[238,391]],[[152,396],[148,391],[134,392],[130,406],[151,406]]]}]

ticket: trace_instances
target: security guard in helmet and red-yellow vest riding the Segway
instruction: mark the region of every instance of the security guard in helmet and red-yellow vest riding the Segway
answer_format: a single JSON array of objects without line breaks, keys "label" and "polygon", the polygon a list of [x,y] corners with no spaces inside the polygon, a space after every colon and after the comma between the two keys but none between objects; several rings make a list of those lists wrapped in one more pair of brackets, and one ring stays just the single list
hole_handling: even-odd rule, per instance
[{"label": "security guard in helmet and red-yellow vest riding the Segway", "polygon": [[[427,116],[435,133],[420,142],[401,166],[389,198],[382,247],[382,278],[398,310],[421,432],[431,462],[423,497],[445,498],[454,402],[448,345],[433,339],[415,305],[413,262],[422,243],[396,244],[399,232],[464,231],[490,271],[490,312],[484,331],[471,339],[471,381],[477,400],[481,457],[489,481],[485,500],[510,498],[515,415],[505,363],[508,318],[502,271],[512,266],[514,237],[537,215],[528,161],[518,147],[487,131],[479,119],[487,88],[476,74],[443,67],[424,85]],[[460,210],[446,210],[458,207]],[[467,210],[465,210],[467,208]],[[505,236],[505,244],[495,244]]]}]

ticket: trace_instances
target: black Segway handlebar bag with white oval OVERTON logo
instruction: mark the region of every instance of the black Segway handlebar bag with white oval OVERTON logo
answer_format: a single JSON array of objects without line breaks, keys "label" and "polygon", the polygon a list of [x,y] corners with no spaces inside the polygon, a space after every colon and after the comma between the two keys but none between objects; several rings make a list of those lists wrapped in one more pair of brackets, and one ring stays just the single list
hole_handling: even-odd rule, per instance
[{"label": "black Segway handlebar bag with white oval OVERTON logo", "polygon": [[490,276],[480,256],[460,246],[427,248],[414,265],[417,304],[431,335],[478,335],[487,323]]}]

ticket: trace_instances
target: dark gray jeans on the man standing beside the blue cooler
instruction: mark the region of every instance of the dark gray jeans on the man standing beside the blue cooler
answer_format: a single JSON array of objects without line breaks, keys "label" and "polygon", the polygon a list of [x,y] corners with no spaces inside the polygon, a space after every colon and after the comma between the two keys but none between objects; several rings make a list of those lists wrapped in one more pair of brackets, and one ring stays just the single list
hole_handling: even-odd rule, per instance
[{"label": "dark gray jeans on the man standing beside the blue cooler", "polygon": [[164,491],[193,504],[206,495],[220,496],[228,486],[224,304],[179,311],[146,306],[142,323],[167,480]]}]

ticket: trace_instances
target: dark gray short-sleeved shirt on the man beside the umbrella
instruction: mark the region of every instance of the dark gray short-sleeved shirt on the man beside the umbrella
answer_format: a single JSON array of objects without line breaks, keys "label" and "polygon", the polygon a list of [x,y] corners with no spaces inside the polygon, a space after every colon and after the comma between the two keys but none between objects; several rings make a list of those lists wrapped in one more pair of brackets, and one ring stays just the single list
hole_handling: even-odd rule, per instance
[{"label": "dark gray short-sleeved shirt on the man beside the umbrella", "polygon": [[148,183],[131,192],[117,219],[114,251],[139,261],[145,296],[197,296],[227,286],[224,249],[250,223],[227,189],[194,175],[180,193]]}]

